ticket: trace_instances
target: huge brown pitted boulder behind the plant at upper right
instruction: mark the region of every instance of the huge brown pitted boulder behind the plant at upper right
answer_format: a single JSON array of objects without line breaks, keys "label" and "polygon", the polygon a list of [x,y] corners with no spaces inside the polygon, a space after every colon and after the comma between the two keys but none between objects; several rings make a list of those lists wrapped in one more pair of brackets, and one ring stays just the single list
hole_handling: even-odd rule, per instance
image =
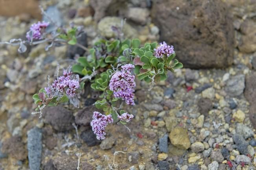
[{"label": "huge brown pitted boulder behind the plant at upper right", "polygon": [[155,0],[151,16],[160,29],[160,40],[175,47],[184,67],[225,68],[232,64],[233,20],[221,0]]}]

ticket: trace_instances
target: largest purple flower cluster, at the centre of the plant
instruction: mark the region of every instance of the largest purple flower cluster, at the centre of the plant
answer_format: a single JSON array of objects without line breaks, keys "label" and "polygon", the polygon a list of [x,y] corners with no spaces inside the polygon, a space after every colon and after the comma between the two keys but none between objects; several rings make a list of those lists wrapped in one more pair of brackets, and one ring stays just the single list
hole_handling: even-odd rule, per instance
[{"label": "largest purple flower cluster, at the centre of the plant", "polygon": [[126,64],[122,66],[121,71],[117,71],[111,77],[109,89],[114,91],[115,98],[122,98],[127,104],[134,104],[134,88],[136,83],[135,76],[131,75],[133,64]]}]

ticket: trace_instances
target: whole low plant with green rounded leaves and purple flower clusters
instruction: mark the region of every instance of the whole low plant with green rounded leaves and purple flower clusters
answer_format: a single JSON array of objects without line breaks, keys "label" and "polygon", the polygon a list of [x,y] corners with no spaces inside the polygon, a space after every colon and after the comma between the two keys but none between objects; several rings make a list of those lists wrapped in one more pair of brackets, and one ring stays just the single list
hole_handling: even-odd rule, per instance
[{"label": "whole low plant with green rounded leaves and purple flower clusters", "polygon": [[[42,11],[44,13],[44,11]],[[84,90],[85,82],[95,91],[100,91],[95,107],[102,113],[94,112],[91,126],[97,139],[105,139],[105,128],[112,122],[127,124],[134,117],[133,114],[122,110],[122,104],[134,105],[135,78],[151,83],[151,90],[155,82],[167,79],[167,71],[182,68],[183,65],[173,58],[173,46],[166,42],[157,46],[157,43],[140,44],[139,39],[123,39],[117,37],[111,40],[99,40],[87,49],[77,43],[77,36],[82,31],[79,27],[63,29],[58,27],[55,31],[47,33],[50,23],[38,22],[33,24],[26,34],[27,40],[13,39],[4,44],[20,45],[19,52],[26,51],[25,45],[34,45],[50,42],[46,50],[56,43],[76,45],[87,51],[85,57],[77,58],[76,64],[64,69],[63,75],[39,93],[33,95],[36,112],[42,116],[42,109],[46,106],[56,106],[62,102],[70,102],[79,107],[80,94]],[[117,28],[115,28],[117,29]],[[59,44],[58,44],[59,45]]]}]

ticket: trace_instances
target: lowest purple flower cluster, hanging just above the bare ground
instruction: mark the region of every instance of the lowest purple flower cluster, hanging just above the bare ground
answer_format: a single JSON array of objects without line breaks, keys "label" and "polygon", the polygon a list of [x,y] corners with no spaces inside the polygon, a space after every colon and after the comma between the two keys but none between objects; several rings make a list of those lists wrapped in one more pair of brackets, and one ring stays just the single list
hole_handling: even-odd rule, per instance
[{"label": "lowest purple flower cluster, hanging just above the bare ground", "polygon": [[98,140],[105,139],[105,128],[113,122],[111,115],[103,115],[99,112],[93,112],[93,120],[91,121],[92,131],[96,134]]}]

